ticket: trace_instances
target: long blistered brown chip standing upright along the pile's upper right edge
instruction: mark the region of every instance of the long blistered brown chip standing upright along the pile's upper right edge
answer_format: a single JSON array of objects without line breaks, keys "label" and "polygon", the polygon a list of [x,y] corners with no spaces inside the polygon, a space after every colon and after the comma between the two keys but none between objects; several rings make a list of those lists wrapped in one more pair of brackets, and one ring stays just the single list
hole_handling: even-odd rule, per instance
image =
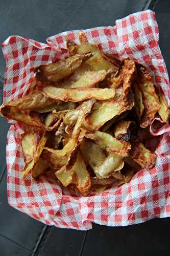
[{"label": "long blistered brown chip standing upright along the pile's upper right edge", "polygon": [[160,109],[158,96],[156,95],[152,76],[142,66],[137,66],[139,90],[142,93],[144,112],[140,119],[140,126],[147,127],[152,123],[156,112]]}]

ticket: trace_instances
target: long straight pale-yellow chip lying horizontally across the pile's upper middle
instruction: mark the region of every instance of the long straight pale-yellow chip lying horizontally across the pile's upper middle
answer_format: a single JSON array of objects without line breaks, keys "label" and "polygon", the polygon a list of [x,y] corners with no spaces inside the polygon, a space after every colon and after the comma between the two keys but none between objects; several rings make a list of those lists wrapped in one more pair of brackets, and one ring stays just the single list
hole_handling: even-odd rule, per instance
[{"label": "long straight pale-yellow chip lying horizontally across the pile's upper middle", "polygon": [[38,87],[38,90],[46,97],[60,99],[63,101],[79,102],[86,99],[106,100],[114,98],[114,88],[57,88],[55,86]]}]

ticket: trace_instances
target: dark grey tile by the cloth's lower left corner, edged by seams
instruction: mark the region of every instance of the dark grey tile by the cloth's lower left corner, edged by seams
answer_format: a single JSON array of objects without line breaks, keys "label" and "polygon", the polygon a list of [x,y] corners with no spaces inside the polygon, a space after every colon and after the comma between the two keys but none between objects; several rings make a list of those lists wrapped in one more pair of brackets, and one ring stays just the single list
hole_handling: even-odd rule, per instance
[{"label": "dark grey tile by the cloth's lower left corner, edged by seams", "polygon": [[7,170],[2,182],[0,183],[0,234],[30,250],[33,250],[43,230],[44,224],[8,205],[6,177]]}]

